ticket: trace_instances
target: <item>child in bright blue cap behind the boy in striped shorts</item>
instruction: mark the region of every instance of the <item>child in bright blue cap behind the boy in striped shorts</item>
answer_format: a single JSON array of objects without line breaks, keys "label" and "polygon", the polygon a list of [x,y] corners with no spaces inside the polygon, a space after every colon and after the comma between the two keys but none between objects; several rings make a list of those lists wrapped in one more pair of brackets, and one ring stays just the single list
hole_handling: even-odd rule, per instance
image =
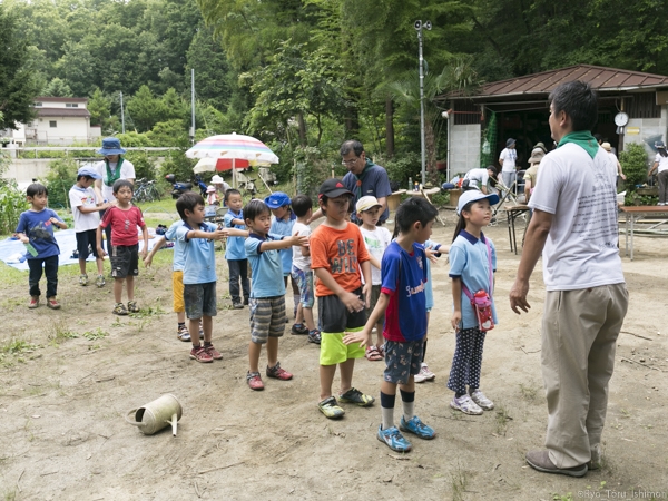
[{"label": "child in bright blue cap behind the boy in striped shorts", "polygon": [[[291,207],[291,200],[286,193],[275,191],[268,197],[265,198],[265,204],[272,210],[272,227],[269,228],[269,233],[274,235],[283,235],[285,237],[291,237],[293,234],[293,228],[295,226],[295,222],[297,220],[297,216],[293,212]],[[297,283],[292,279],[292,258],[293,252],[292,248],[283,248],[279,252],[281,263],[283,265],[283,282],[285,283],[285,287],[287,288],[287,277],[291,277],[292,288],[293,288],[293,298],[294,298],[294,310],[293,316],[296,318],[297,316],[297,307],[299,307],[299,286]],[[287,318],[286,318],[287,321]],[[298,331],[298,332],[295,332]],[[293,325],[292,328],[293,334],[308,334],[308,327],[305,325]]]}]

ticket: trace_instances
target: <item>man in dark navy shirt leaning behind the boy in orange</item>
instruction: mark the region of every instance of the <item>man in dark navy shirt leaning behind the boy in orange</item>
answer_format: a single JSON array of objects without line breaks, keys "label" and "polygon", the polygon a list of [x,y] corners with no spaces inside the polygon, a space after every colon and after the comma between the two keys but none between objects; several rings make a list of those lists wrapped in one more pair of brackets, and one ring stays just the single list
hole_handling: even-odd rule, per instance
[{"label": "man in dark navy shirt leaning behind the boy in orange", "polygon": [[[374,196],[382,206],[379,225],[385,223],[390,216],[387,197],[392,195],[387,171],[366,158],[364,146],[357,140],[345,141],[341,145],[338,153],[342,158],[341,163],[348,169],[348,173],[343,177],[343,184],[353,194],[351,207],[355,207],[357,200],[364,196]],[[311,220],[322,216],[323,214],[318,209],[313,214]],[[356,223],[357,215],[352,214],[351,219]]]}]

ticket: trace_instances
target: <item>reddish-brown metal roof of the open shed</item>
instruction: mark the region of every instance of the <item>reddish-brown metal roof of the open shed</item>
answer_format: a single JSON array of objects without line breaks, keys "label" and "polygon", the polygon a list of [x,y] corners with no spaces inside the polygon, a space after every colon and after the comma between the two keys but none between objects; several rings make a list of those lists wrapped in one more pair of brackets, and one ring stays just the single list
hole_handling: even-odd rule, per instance
[{"label": "reddish-brown metal roof of the open shed", "polygon": [[601,66],[578,65],[487,84],[482,86],[480,92],[474,96],[458,96],[456,92],[453,92],[449,97],[454,99],[471,99],[532,94],[544,95],[549,94],[558,85],[572,80],[589,82],[599,91],[668,87],[668,77],[661,75],[606,68]]}]

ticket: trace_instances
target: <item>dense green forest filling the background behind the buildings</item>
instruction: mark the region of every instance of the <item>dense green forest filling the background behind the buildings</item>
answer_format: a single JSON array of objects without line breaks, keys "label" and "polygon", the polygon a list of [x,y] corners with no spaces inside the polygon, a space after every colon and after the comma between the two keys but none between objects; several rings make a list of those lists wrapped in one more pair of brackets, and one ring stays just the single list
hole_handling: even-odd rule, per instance
[{"label": "dense green forest filling the background behind the buildings", "polygon": [[[35,96],[89,98],[91,124],[126,146],[245,132],[284,163],[332,164],[341,141],[412,164],[420,153],[418,37],[432,98],[574,63],[668,75],[665,0],[9,0],[0,3],[3,126]],[[403,163],[403,164],[402,164]]]}]

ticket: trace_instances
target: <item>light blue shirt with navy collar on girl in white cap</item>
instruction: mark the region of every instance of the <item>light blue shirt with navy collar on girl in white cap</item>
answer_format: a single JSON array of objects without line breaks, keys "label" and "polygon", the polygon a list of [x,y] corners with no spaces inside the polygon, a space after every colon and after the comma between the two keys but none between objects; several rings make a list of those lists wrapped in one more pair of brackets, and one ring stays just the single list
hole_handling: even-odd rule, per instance
[{"label": "light blue shirt with navy collar on girl in white cap", "polygon": [[[450,277],[461,278],[471,294],[478,291],[487,291],[490,294],[490,266],[485,236],[481,233],[480,239],[470,233],[462,230],[450,246]],[[497,249],[492,240],[488,239],[492,249],[492,272],[497,271]],[[494,297],[492,299],[492,317],[494,324],[499,324],[497,318],[497,307]],[[473,328],[478,326],[478,318],[471,301],[464,294],[462,287],[462,328]]]}]

